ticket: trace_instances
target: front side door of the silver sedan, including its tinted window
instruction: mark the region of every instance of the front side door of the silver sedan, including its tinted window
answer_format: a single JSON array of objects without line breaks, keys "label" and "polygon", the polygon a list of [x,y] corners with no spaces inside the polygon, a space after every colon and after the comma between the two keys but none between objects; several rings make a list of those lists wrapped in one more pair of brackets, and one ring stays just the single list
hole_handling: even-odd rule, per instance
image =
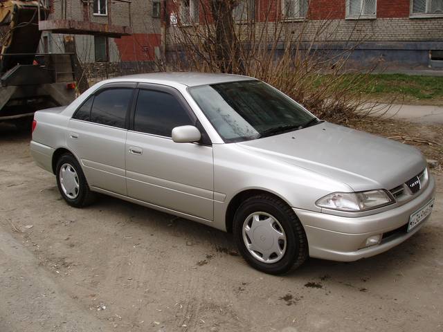
[{"label": "front side door of the silver sedan, including its tinted window", "polygon": [[183,96],[154,84],[138,88],[125,149],[128,196],[212,221],[213,147],[206,134],[200,143],[174,142],[174,127],[199,126]]}]

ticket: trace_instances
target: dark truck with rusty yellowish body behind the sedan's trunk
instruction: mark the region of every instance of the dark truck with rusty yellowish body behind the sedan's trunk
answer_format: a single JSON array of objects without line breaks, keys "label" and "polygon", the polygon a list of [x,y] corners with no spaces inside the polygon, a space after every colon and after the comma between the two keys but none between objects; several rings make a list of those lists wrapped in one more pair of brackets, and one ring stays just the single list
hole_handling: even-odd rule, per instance
[{"label": "dark truck with rusty yellowish body behind the sedan's trunk", "polygon": [[37,53],[48,12],[42,2],[0,0],[0,122],[28,127],[38,109],[75,98],[73,54]]}]

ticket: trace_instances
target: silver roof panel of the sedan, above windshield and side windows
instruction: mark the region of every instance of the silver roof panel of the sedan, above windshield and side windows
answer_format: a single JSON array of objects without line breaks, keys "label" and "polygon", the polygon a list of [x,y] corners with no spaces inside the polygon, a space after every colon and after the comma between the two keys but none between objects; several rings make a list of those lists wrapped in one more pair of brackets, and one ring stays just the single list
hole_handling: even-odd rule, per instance
[{"label": "silver roof panel of the sedan, above windshield and side windows", "polygon": [[134,79],[138,82],[156,82],[163,84],[183,84],[186,86],[199,86],[206,84],[217,84],[224,82],[236,82],[255,80],[253,77],[231,74],[218,74],[218,73],[192,73],[192,72],[177,72],[177,73],[146,73],[127,75],[123,77],[116,77],[108,80],[108,82],[116,82],[121,80]]}]

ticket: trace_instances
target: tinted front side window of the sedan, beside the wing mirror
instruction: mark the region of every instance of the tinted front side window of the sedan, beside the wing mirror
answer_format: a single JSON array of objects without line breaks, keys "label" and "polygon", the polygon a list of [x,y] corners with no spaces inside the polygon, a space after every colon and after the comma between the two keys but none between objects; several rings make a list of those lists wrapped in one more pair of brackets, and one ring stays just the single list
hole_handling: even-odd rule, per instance
[{"label": "tinted front side window of the sedan, beside the wing mirror", "polygon": [[171,137],[172,129],[185,125],[195,125],[195,121],[192,121],[174,95],[140,90],[134,115],[134,131]]}]

